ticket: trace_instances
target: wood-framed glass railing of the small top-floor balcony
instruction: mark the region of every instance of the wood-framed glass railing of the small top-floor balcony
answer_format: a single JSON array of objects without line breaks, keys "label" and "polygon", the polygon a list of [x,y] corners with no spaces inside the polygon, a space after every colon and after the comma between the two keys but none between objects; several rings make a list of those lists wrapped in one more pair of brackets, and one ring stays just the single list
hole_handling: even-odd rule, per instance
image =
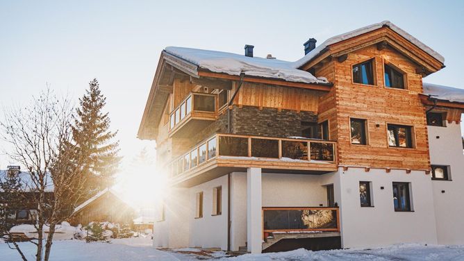
[{"label": "wood-framed glass railing of the small top-floor balcony", "polygon": [[169,131],[187,121],[192,114],[203,117],[215,117],[217,114],[217,94],[191,92],[179,106],[169,114]]}]

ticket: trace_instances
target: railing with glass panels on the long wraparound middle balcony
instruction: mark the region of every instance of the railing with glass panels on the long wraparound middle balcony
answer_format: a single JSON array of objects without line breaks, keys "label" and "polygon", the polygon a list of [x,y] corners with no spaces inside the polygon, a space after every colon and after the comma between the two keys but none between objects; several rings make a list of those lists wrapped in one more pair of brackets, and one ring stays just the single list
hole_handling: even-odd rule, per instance
[{"label": "railing with glass panels on the long wraparound middle balcony", "polygon": [[335,151],[336,142],[325,140],[216,134],[170,162],[168,168],[171,176],[178,176],[215,158],[327,164],[336,162]]}]

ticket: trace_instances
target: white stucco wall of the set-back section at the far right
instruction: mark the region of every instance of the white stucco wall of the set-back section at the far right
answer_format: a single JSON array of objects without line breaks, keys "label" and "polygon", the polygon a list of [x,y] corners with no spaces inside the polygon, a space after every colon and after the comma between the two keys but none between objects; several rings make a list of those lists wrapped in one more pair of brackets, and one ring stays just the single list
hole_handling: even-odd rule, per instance
[{"label": "white stucco wall of the set-back section at the far right", "polygon": [[[431,165],[449,165],[451,180],[432,180],[438,244],[464,244],[464,155],[461,126],[428,126]],[[438,136],[438,138],[437,138]],[[445,190],[445,193],[442,193]]]}]

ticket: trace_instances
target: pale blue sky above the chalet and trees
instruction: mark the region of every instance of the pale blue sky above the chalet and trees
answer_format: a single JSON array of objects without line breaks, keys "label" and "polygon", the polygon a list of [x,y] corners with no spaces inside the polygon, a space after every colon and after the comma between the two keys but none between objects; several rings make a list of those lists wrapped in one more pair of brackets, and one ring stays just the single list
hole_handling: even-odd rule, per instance
[{"label": "pale blue sky above the chalet and trees", "polygon": [[[243,53],[254,44],[255,56],[297,60],[309,37],[320,44],[388,19],[445,56],[424,81],[464,88],[463,14],[464,1],[0,0],[0,108],[47,83],[77,99],[98,78],[127,166],[154,148],[136,133],[164,47]],[[0,154],[0,168],[8,163]]]}]

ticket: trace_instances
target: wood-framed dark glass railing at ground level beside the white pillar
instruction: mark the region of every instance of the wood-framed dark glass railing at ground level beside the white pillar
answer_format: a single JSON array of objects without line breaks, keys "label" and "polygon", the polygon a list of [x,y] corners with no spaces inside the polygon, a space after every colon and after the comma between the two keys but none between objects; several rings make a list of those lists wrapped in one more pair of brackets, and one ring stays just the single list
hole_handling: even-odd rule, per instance
[{"label": "wood-framed dark glass railing at ground level beside the white pillar", "polygon": [[338,208],[263,208],[263,238],[266,233],[340,231]]}]

